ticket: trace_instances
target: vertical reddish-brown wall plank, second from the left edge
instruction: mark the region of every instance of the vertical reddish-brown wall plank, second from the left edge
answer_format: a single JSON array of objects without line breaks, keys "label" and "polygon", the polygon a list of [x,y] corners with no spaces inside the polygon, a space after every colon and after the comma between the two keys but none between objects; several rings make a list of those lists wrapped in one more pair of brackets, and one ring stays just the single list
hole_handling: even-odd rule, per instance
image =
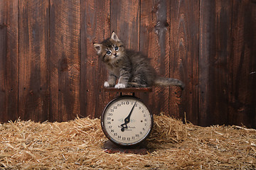
[{"label": "vertical reddish-brown wall plank, second from the left edge", "polygon": [[48,120],[48,1],[19,1],[19,114]]}]

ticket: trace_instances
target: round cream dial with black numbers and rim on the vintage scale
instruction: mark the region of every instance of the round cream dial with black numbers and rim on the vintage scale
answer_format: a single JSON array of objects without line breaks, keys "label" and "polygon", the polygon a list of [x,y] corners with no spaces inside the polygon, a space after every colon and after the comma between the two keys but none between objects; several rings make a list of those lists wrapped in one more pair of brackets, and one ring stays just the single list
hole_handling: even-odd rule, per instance
[{"label": "round cream dial with black numbers and rim on the vintage scale", "polygon": [[149,136],[153,115],[139,98],[120,96],[106,106],[101,117],[102,130],[117,145],[137,145]]}]

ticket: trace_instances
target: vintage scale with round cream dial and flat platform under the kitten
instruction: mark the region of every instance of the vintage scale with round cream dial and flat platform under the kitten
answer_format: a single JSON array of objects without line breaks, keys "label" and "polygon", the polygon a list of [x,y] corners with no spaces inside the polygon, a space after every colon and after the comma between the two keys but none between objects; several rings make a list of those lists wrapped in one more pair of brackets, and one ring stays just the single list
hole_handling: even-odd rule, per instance
[{"label": "vintage scale with round cream dial and flat platform under the kitten", "polygon": [[[102,117],[102,130],[110,140],[105,142],[106,152],[146,154],[142,142],[149,137],[153,128],[153,115],[149,109],[137,98],[135,92],[151,92],[151,88],[105,88],[106,92],[119,92],[105,107]],[[132,96],[123,96],[131,93]]]}]

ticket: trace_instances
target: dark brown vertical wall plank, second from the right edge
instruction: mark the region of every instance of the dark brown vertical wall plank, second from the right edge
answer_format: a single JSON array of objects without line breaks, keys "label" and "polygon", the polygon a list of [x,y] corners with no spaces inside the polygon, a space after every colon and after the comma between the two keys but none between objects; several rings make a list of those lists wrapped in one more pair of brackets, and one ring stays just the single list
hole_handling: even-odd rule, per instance
[{"label": "dark brown vertical wall plank, second from the right edge", "polygon": [[227,122],[230,1],[201,1],[199,124]]}]

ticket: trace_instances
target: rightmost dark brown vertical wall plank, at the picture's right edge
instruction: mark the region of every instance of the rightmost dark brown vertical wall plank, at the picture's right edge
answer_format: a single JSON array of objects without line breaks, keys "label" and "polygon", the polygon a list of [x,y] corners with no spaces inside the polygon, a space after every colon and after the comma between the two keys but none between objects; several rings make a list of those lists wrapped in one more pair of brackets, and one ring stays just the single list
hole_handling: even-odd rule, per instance
[{"label": "rightmost dark brown vertical wall plank, at the picture's right edge", "polygon": [[228,123],[256,127],[256,4],[231,1]]}]

